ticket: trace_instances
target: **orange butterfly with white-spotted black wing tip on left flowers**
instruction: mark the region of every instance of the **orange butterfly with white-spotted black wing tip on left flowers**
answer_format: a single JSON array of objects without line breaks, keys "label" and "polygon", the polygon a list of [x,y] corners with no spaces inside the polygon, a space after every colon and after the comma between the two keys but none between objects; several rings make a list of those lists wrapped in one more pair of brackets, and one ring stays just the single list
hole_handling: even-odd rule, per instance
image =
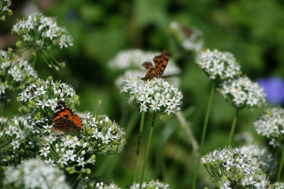
[{"label": "orange butterfly with white-spotted black wing tip on left flowers", "polygon": [[64,101],[59,101],[54,110],[51,130],[58,134],[73,133],[82,130],[82,126],[81,118]]}]

